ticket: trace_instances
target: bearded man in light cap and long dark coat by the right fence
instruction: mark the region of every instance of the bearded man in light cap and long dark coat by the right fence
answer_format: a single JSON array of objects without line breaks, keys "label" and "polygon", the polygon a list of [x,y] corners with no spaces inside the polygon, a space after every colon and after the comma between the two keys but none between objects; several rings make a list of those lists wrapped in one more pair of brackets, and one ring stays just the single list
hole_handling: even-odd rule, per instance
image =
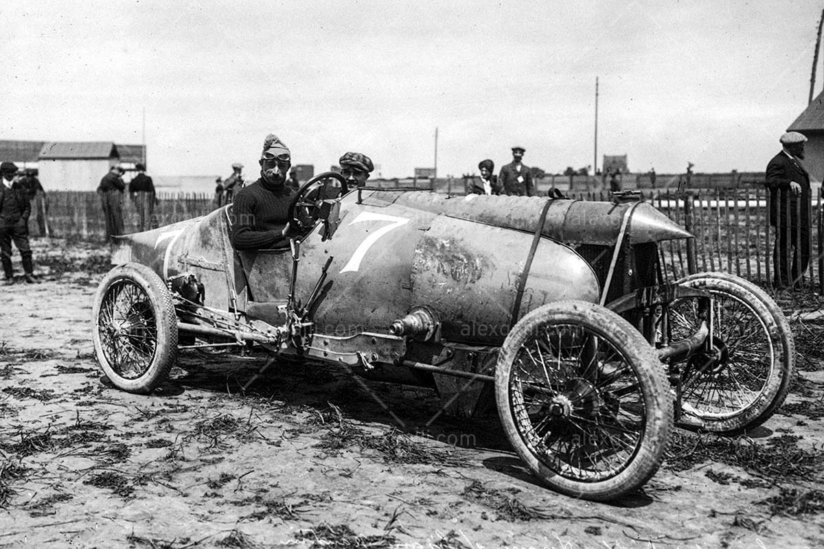
[{"label": "bearded man in light cap and long dark coat by the right fence", "polygon": [[807,137],[781,136],[782,149],[767,165],[770,225],[775,227],[775,286],[799,285],[810,262],[810,175],[801,164]]}]

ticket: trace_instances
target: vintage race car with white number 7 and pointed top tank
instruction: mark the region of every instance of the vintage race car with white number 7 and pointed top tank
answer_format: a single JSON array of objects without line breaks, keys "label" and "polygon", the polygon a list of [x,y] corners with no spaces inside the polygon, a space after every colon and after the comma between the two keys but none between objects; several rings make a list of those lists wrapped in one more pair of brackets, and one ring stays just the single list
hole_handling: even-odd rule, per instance
[{"label": "vintage race car with white number 7 and pointed top tank", "polygon": [[[326,173],[285,249],[232,248],[232,209],[119,240],[93,307],[105,375],[150,393],[179,349],[263,348],[497,404],[551,488],[610,500],[657,471],[674,425],[735,434],[780,406],[789,323],[723,273],[669,279],[691,235],[647,203],[450,198]],[[288,361],[300,367],[300,361]]]}]

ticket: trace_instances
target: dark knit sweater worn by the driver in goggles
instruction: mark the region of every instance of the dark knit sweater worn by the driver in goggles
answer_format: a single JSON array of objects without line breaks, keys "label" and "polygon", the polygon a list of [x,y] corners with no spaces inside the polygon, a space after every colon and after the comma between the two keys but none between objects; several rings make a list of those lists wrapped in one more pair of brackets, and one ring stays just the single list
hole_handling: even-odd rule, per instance
[{"label": "dark knit sweater worn by the driver in goggles", "polygon": [[232,245],[236,249],[272,248],[283,241],[293,188],[274,187],[258,179],[235,194],[232,206]]}]

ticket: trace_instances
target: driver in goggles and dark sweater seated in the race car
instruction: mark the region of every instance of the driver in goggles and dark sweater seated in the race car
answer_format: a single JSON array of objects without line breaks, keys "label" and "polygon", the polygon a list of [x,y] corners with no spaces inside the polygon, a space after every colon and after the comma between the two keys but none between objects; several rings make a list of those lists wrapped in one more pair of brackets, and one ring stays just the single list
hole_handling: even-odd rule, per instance
[{"label": "driver in goggles and dark sweater seated in the race car", "polygon": [[232,212],[235,249],[279,248],[284,240],[297,236],[288,222],[289,204],[296,194],[285,184],[291,165],[288,147],[274,133],[269,133],[260,153],[260,179],[235,195]]}]

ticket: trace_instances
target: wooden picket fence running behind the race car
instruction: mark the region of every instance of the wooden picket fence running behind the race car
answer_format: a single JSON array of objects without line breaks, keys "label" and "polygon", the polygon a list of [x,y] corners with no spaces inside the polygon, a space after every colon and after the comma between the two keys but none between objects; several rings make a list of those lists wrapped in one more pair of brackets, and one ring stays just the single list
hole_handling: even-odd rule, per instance
[{"label": "wooden picket fence running behind the race car", "polygon": [[[641,191],[672,221],[695,235],[694,240],[674,240],[662,244],[661,253],[669,277],[692,271],[730,272],[762,286],[771,286],[774,277],[775,227],[768,217],[769,193],[764,188],[707,188],[677,192],[672,189]],[[166,226],[213,211],[213,195],[159,194],[154,209],[154,225]],[[569,193],[579,200],[609,201],[609,192]],[[812,259],[805,279],[807,288],[824,293],[824,243],[822,243],[822,199],[812,206]],[[798,212],[789,212],[798,215]],[[34,218],[34,212],[32,218]],[[84,240],[103,240],[105,220],[96,193],[50,192],[48,219],[50,234]],[[124,226],[137,232],[140,216],[128,198],[124,200]],[[149,227],[146,227],[149,228]],[[33,235],[37,224],[31,221]],[[813,283],[811,284],[810,281]]]}]

